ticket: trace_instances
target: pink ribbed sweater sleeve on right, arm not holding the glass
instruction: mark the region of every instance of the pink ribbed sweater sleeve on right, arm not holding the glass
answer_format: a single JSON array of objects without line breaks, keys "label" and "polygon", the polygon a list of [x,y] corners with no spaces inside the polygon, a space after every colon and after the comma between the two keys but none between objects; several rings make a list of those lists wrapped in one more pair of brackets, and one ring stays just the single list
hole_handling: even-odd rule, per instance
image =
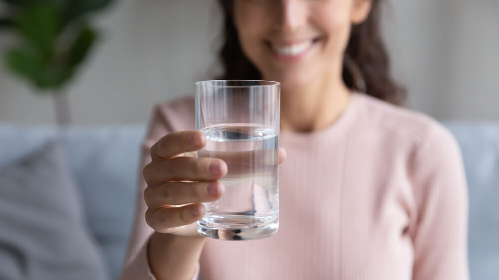
[{"label": "pink ribbed sweater sleeve on right, arm not holding the glass", "polygon": [[440,125],[429,129],[410,170],[417,217],[414,280],[468,280],[468,194],[457,141]]}]

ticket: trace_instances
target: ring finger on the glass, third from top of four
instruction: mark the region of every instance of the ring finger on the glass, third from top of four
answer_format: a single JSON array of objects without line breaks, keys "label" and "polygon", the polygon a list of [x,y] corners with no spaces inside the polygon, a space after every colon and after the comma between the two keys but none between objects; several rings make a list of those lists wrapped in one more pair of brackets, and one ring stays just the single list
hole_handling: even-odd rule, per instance
[{"label": "ring finger on the glass, third from top of four", "polygon": [[220,182],[171,182],[157,187],[147,187],[144,200],[148,207],[159,208],[164,205],[201,203],[219,199],[225,191]]}]

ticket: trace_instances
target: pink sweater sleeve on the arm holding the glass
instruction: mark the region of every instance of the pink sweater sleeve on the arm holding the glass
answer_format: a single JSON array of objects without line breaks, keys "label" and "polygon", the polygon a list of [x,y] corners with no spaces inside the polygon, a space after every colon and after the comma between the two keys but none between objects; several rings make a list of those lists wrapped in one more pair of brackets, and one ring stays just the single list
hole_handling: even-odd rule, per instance
[{"label": "pink sweater sleeve on the arm holding the glass", "polygon": [[[147,225],[145,221],[145,213],[147,206],[144,202],[144,189],[147,184],[142,176],[142,169],[146,164],[151,162],[150,149],[151,146],[158,141],[161,137],[165,136],[172,129],[162,113],[160,107],[154,110],[149,129],[145,140],[142,143],[140,170],[139,170],[139,184],[137,189],[137,200],[135,207],[135,218],[132,226],[132,233],[130,236],[128,249],[125,257],[125,262],[121,270],[120,280],[156,280],[151,272],[147,246],[149,238],[154,230]],[[198,268],[193,276],[193,280],[198,279]]]}]

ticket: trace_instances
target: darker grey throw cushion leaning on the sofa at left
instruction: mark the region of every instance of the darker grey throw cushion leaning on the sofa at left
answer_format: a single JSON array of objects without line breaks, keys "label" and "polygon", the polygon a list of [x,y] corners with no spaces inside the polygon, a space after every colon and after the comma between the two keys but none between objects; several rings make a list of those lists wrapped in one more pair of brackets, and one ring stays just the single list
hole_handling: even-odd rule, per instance
[{"label": "darker grey throw cushion leaning on the sofa at left", "polygon": [[68,174],[55,141],[0,168],[0,279],[108,279]]}]

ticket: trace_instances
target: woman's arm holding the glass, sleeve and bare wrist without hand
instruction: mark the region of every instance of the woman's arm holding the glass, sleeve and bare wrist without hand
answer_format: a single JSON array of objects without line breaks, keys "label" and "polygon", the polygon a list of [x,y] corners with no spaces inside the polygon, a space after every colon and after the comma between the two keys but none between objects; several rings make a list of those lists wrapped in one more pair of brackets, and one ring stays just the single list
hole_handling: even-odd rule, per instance
[{"label": "woman's arm holding the glass, sleeve and bare wrist without hand", "polygon": [[[142,176],[142,169],[151,162],[151,146],[171,131],[161,110],[156,108],[142,145],[135,219],[120,280],[162,280],[161,277],[166,274],[174,276],[173,279],[186,274],[197,278],[198,260],[204,238],[172,237],[169,234],[155,233],[145,221],[147,206],[144,202],[144,189],[147,184]],[[153,272],[158,277],[155,277]]]}]

